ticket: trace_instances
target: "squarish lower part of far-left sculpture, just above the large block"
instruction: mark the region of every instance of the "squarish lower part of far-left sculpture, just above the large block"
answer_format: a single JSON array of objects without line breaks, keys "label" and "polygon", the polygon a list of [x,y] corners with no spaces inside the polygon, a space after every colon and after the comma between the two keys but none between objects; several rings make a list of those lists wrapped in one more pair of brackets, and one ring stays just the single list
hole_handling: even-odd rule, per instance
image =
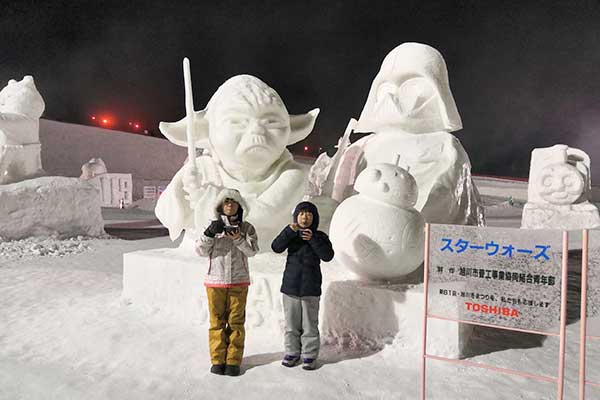
[{"label": "squarish lower part of far-left sculpture, just above the large block", "polygon": [[40,143],[0,146],[0,185],[43,174],[40,150]]}]

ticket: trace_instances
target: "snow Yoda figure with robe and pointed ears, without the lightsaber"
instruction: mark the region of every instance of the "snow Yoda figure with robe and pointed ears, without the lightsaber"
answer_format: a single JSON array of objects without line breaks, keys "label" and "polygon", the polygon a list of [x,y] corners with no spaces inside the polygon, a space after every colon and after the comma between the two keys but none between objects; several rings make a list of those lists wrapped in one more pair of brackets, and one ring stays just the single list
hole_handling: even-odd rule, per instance
[{"label": "snow Yoda figure with robe and pointed ears, without the lightsaber", "polygon": [[[286,146],[310,134],[318,113],[289,115],[277,92],[254,76],[234,76],[221,85],[206,108],[193,113],[193,141],[204,149],[196,158],[197,172],[188,160],[156,206],[171,239],[182,230],[203,229],[217,194],[228,187],[242,194],[247,219],[267,248],[304,194],[305,172]],[[186,123],[162,122],[160,130],[187,146]]]}]

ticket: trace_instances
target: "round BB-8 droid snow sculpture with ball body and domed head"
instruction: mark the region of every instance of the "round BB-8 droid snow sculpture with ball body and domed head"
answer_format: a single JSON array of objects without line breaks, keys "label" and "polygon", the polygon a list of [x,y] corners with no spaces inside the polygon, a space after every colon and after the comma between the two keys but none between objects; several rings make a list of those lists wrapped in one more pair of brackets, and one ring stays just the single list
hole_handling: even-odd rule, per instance
[{"label": "round BB-8 droid snow sculpture with ball body and domed head", "polygon": [[367,167],[359,192],[344,200],[331,220],[336,258],[362,279],[401,278],[423,262],[425,220],[414,209],[418,189],[408,171],[393,164]]}]

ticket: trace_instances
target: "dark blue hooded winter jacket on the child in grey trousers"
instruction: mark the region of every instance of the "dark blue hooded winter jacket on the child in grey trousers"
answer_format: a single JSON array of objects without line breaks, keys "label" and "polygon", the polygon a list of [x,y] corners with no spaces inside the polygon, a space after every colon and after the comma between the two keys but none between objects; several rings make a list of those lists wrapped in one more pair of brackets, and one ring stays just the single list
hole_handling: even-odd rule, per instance
[{"label": "dark blue hooded winter jacket on the child in grey trousers", "polygon": [[320,296],[321,295],[321,260],[333,259],[333,247],[326,233],[318,231],[319,212],[317,207],[303,201],[294,210],[294,222],[298,222],[301,210],[310,211],[313,222],[309,229],[313,235],[310,240],[303,240],[301,232],[294,232],[286,226],[273,240],[271,248],[275,253],[288,251],[281,292],[290,296]]}]

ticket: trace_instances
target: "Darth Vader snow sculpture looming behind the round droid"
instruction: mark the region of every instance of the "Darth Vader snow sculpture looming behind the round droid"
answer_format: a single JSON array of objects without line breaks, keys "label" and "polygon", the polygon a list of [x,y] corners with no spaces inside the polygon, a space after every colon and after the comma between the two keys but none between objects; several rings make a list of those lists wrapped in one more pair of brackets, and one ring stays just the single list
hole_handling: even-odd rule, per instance
[{"label": "Darth Vader snow sculpture looming behind the round droid", "polygon": [[396,47],[385,57],[354,127],[374,134],[338,149],[343,153],[332,197],[347,197],[360,171],[399,154],[419,188],[415,208],[428,222],[482,225],[469,157],[450,133],[461,128],[442,55],[419,43]]}]

